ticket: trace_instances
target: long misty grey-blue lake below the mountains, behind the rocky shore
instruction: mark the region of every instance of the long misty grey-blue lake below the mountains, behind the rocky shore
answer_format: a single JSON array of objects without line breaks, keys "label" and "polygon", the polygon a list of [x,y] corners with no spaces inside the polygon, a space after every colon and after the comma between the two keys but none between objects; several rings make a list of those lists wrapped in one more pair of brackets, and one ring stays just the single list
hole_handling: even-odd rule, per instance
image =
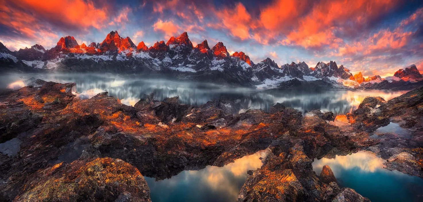
[{"label": "long misty grey-blue lake below the mountains, behind the rocky shore", "polygon": [[[21,77],[19,77],[21,76]],[[127,105],[134,105],[144,94],[155,93],[157,99],[179,96],[181,104],[200,105],[217,99],[234,100],[231,103],[233,112],[244,112],[247,109],[269,110],[277,102],[285,106],[299,109],[302,112],[320,109],[322,112],[332,111],[335,115],[346,114],[363,101],[366,96],[381,96],[390,100],[406,91],[356,90],[356,91],[323,91],[310,90],[260,90],[245,87],[227,87],[201,82],[171,81],[167,79],[143,78],[136,75],[123,76],[113,74],[82,73],[50,73],[3,75],[0,77],[0,88],[19,89],[22,80],[44,79],[54,82],[75,82],[77,92],[91,97],[96,92],[107,91]]]}]

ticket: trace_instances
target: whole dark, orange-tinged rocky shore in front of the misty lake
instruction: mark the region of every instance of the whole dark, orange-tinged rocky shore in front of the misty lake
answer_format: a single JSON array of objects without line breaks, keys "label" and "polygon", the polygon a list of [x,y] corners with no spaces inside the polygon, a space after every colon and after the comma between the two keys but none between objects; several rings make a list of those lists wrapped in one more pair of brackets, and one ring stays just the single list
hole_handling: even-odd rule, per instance
[{"label": "whole dark, orange-tinged rocky shore in front of the misty lake", "polygon": [[[358,150],[423,177],[423,88],[366,98],[340,128],[330,113],[304,117],[282,104],[234,115],[222,101],[191,106],[151,95],[126,106],[107,93],[77,99],[74,86],[36,80],[0,96],[0,201],[150,201],[143,176],[223,166],[266,148],[239,201],[368,201],[340,188],[329,167],[318,176],[311,165]],[[373,133],[390,122],[411,137]]]}]

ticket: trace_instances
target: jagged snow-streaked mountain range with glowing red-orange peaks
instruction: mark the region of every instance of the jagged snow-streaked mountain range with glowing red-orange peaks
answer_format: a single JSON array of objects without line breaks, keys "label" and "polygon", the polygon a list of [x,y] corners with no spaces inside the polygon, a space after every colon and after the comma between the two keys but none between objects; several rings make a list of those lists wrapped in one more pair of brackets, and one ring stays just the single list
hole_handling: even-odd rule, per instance
[{"label": "jagged snow-streaked mountain range with glowing red-orange peaks", "polygon": [[260,88],[412,89],[423,85],[423,76],[415,65],[396,71],[393,76],[364,78],[351,74],[335,61],[309,67],[305,62],[278,66],[266,58],[253,63],[244,52],[229,54],[218,42],[210,48],[207,40],[193,46],[186,32],[178,37],[157,41],[147,47],[135,45],[117,31],[107,34],[101,43],[79,45],[73,36],[60,38],[57,45],[41,45],[10,51],[0,43],[0,71],[21,72],[113,72],[120,74],[161,75],[173,79],[215,82]]}]

